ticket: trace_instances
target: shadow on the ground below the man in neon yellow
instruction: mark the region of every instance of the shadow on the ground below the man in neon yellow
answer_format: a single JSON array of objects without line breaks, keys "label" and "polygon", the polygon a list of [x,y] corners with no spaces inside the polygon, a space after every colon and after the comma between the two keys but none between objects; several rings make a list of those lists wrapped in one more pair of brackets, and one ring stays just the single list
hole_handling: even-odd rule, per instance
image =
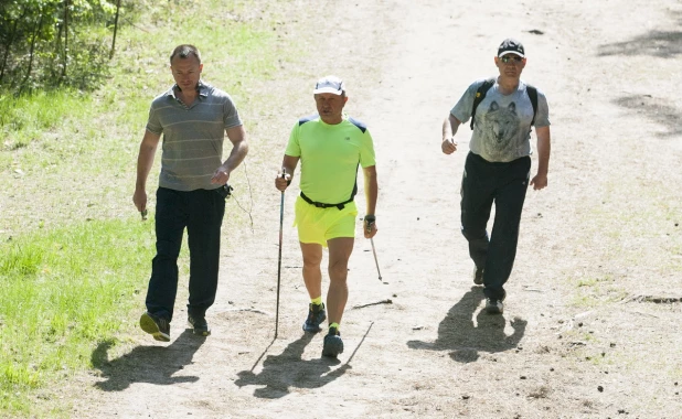
[{"label": "shadow on the ground below the man in neon yellow", "polygon": [[301,358],[303,350],[312,341],[313,336],[311,333],[305,333],[301,337],[287,345],[281,354],[268,355],[263,362],[260,373],[254,374],[254,368],[257,365],[256,362],[256,365],[251,370],[237,373],[239,378],[234,383],[239,387],[265,386],[256,388],[254,396],[276,399],[288,395],[290,387],[319,388],[345,374],[351,368],[349,363],[355,352],[353,352],[353,355],[345,364],[335,369],[332,369],[332,367],[341,363],[337,358]]}]

